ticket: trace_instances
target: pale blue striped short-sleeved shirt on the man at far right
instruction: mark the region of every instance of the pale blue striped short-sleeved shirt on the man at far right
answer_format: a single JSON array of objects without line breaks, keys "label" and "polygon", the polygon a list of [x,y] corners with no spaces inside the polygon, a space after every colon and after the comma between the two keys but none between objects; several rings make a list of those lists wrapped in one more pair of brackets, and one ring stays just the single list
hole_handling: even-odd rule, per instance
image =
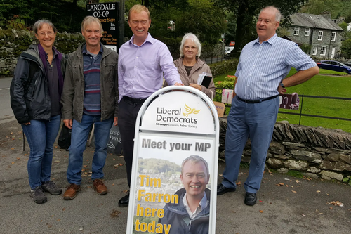
[{"label": "pale blue striped short-sleeved shirt on the man at far right", "polygon": [[235,93],[246,100],[259,100],[279,94],[279,83],[291,70],[307,70],[317,64],[293,41],[274,34],[268,41],[251,41],[241,51]]}]

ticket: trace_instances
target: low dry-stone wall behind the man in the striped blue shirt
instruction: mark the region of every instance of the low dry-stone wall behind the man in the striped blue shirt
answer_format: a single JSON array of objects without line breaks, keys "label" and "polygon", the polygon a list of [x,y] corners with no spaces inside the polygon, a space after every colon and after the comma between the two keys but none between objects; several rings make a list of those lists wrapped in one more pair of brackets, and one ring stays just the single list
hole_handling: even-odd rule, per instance
[{"label": "low dry-stone wall behind the man in the striped blue shirt", "polygon": [[[224,159],[227,119],[220,118],[220,158]],[[241,162],[250,162],[247,141]],[[266,166],[281,173],[300,171],[310,178],[336,179],[351,175],[351,134],[342,130],[277,122]]]}]

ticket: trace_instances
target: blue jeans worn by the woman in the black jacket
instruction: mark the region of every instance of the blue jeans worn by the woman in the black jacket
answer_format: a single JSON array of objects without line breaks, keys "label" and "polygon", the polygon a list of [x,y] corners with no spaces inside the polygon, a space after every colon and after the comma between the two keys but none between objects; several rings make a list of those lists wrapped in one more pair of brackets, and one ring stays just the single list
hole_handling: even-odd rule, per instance
[{"label": "blue jeans worn by the woman in the black jacket", "polygon": [[49,120],[33,119],[30,125],[21,124],[30,148],[27,169],[29,186],[32,189],[50,181],[53,143],[58,136],[60,123],[61,115],[55,115]]}]

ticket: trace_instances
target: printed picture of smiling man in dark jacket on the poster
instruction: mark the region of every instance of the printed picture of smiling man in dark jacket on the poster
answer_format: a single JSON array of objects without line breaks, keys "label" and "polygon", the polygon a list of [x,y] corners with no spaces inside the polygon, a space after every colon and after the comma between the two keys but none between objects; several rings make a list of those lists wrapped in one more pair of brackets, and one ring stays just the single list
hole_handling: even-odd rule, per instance
[{"label": "printed picture of smiling man in dark jacket on the poster", "polygon": [[176,192],[178,204],[167,203],[161,224],[171,224],[169,234],[208,234],[210,195],[206,188],[210,178],[208,164],[204,158],[191,155],[182,162],[180,181],[184,188]]}]

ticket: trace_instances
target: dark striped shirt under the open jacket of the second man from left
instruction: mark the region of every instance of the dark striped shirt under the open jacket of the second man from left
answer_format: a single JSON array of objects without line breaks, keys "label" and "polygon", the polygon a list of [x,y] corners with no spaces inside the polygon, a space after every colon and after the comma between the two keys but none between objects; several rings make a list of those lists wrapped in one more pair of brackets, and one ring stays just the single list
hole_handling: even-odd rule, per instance
[{"label": "dark striped shirt under the open jacket of the second man from left", "polygon": [[101,115],[100,100],[100,62],[102,46],[98,55],[94,55],[83,48],[84,72],[84,114]]}]

